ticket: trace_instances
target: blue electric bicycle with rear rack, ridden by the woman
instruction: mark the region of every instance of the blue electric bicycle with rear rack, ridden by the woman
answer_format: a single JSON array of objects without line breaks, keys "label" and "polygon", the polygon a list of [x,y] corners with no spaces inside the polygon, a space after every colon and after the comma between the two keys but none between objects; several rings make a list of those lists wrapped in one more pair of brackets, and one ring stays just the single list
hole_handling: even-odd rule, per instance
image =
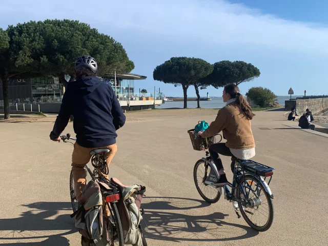
[{"label": "blue electric bicycle with rear rack, ridden by the woman", "polygon": [[[206,139],[204,142],[209,141]],[[206,151],[206,157],[198,160],[194,167],[194,180],[199,195],[205,201],[215,203],[223,194],[225,199],[233,203],[238,218],[241,217],[240,212],[250,227],[261,232],[267,231],[274,217],[274,196],[269,188],[274,168],[252,160],[236,159],[232,170],[232,183],[224,187],[215,185],[219,173],[210,153]]]}]

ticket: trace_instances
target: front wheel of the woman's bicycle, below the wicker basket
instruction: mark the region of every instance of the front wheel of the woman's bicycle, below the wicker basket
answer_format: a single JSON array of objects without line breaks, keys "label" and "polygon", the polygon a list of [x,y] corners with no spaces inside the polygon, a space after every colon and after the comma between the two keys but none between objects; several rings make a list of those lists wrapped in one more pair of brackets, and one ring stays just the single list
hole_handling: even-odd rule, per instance
[{"label": "front wheel of the woman's bicycle, below the wicker basket", "polygon": [[194,181],[195,181],[195,186],[197,188],[197,191],[199,195],[207,202],[209,203],[215,203],[220,199],[220,192],[215,189],[213,186],[209,186],[204,184],[203,179],[205,175],[208,175],[211,171],[211,167],[207,167],[207,172],[206,172],[206,167],[205,167],[205,161],[198,160],[195,164],[194,167]]}]

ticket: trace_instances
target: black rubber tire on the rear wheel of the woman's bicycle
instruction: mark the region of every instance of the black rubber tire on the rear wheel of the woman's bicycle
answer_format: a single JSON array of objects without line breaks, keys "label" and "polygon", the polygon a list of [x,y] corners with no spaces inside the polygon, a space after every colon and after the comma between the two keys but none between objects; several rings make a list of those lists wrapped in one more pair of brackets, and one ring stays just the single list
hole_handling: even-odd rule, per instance
[{"label": "black rubber tire on the rear wheel of the woman's bicycle", "polygon": [[[253,179],[253,175],[252,174],[242,175],[240,177],[240,183],[241,184],[244,182],[244,179],[246,179],[246,180],[247,179],[252,180]],[[267,198],[268,207],[269,207],[269,218],[268,218],[268,221],[263,226],[257,226],[257,224],[253,223],[250,220],[250,218],[248,217],[247,213],[245,213],[244,207],[242,206],[241,202],[238,202],[238,206],[239,206],[240,213],[241,213],[242,217],[249,224],[249,226],[251,228],[253,228],[254,230],[259,231],[259,232],[265,232],[265,231],[267,231],[267,230],[270,229],[270,227],[272,226],[272,223],[273,223],[273,218],[274,218],[273,202],[272,202],[272,199],[269,196],[269,194],[264,190],[264,187],[263,187],[262,183],[260,182],[260,180],[256,176],[254,177],[254,181],[259,184],[259,187],[261,188],[261,190],[263,191],[265,197]],[[237,198],[240,199],[240,192],[237,193]]]}]

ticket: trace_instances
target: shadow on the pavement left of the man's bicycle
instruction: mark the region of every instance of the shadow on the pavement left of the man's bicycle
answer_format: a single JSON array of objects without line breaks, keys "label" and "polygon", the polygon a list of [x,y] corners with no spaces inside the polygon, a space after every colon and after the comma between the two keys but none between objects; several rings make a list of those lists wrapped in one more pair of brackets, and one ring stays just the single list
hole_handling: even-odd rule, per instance
[{"label": "shadow on the pavement left of the man's bicycle", "polygon": [[70,245],[64,237],[76,232],[69,216],[70,202],[35,202],[22,206],[30,210],[21,217],[0,219],[0,241],[6,240],[4,245]]}]

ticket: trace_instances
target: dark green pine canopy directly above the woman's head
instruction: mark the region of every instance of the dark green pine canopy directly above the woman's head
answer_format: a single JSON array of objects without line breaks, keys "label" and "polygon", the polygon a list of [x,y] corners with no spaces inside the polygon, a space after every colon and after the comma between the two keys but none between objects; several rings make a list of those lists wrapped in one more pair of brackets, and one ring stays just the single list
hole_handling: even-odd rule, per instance
[{"label": "dark green pine canopy directly above the woman's head", "polygon": [[213,72],[202,80],[215,88],[229,84],[239,85],[260,76],[260,70],[244,61],[222,60],[213,65]]}]

